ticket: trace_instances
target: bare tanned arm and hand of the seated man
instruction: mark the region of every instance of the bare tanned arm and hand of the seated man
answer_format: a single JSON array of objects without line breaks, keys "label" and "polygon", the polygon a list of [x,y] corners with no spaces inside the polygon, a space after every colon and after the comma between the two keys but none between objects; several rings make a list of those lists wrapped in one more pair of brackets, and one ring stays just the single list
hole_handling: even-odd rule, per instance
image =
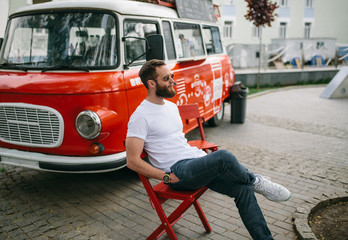
[{"label": "bare tanned arm and hand of the seated man", "polygon": [[[127,167],[146,177],[162,180],[165,172],[151,166],[140,158],[143,149],[144,140],[136,137],[128,137],[126,139]],[[174,173],[171,173],[170,177],[171,183],[179,181]]]}]

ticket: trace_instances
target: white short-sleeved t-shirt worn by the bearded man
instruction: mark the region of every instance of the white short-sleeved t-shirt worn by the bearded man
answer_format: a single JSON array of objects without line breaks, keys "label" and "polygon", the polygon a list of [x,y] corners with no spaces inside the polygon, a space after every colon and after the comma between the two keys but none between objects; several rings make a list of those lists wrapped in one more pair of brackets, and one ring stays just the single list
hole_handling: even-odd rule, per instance
[{"label": "white short-sleeved t-shirt worn by the bearded man", "polygon": [[129,119],[127,137],[144,140],[151,164],[164,171],[177,161],[206,155],[187,143],[178,107],[167,100],[163,105],[144,100]]}]

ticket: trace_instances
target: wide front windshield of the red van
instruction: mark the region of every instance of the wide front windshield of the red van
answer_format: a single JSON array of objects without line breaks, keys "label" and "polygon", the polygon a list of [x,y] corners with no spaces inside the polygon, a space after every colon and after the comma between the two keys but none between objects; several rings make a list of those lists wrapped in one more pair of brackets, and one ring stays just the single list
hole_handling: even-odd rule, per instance
[{"label": "wide front windshield of the red van", "polygon": [[116,19],[99,12],[57,12],[12,18],[0,68],[98,69],[115,67]]}]

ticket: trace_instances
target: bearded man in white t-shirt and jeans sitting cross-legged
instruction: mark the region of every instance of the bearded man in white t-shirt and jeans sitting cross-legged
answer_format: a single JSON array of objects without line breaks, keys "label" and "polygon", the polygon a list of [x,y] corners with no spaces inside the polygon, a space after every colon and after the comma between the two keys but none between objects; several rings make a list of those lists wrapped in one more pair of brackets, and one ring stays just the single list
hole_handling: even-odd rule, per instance
[{"label": "bearded man in white t-shirt and jeans sitting cross-legged", "polygon": [[[261,175],[254,175],[236,157],[218,150],[206,154],[185,139],[177,106],[165,100],[175,95],[174,75],[161,60],[144,64],[139,76],[147,89],[146,99],[132,114],[126,139],[127,166],[176,190],[209,189],[235,198],[253,239],[273,239],[255,192],[272,201],[286,201],[290,192]],[[145,149],[151,164],[140,155]]]}]

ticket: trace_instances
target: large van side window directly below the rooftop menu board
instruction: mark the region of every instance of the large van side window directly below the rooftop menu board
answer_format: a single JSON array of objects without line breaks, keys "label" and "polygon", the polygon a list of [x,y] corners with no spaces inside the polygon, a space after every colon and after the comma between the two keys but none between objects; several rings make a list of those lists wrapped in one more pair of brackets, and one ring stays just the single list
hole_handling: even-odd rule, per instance
[{"label": "large van side window directly below the rooftop menu board", "polygon": [[198,24],[174,23],[175,45],[179,58],[204,55],[202,34]]}]

